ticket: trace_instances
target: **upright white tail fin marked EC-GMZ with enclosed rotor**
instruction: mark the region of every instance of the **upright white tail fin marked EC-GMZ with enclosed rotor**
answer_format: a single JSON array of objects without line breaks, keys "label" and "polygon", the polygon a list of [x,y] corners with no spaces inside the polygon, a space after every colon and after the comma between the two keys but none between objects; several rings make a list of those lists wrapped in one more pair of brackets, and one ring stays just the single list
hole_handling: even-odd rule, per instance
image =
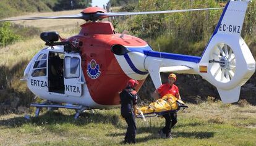
[{"label": "upright white tail fin marked EC-GMZ with enclosed rotor", "polygon": [[245,13],[250,1],[229,1],[211,37],[199,67],[204,79],[217,87],[224,103],[239,100],[241,86],[255,72],[255,60],[241,38]]}]

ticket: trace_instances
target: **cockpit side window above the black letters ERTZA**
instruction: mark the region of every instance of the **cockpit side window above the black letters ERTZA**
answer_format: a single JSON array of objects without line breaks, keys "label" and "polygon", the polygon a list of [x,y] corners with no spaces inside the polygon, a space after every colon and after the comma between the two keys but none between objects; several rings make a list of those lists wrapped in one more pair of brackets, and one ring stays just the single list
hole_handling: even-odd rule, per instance
[{"label": "cockpit side window above the black letters ERTZA", "polygon": [[[40,62],[44,62],[41,64],[43,66],[40,65]],[[37,59],[33,63],[33,68],[32,68],[32,72],[31,72],[30,76],[32,76],[32,78],[47,76],[47,66],[48,66],[47,64],[48,64],[47,54],[43,53],[43,54],[38,55]]]}]

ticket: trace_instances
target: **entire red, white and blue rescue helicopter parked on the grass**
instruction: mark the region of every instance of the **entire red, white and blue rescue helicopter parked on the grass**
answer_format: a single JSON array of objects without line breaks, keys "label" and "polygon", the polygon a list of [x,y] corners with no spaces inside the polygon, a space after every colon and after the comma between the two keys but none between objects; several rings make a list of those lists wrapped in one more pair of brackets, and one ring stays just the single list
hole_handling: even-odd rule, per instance
[{"label": "entire red, white and blue rescue helicopter parked on the grass", "polygon": [[[161,85],[160,72],[200,75],[217,87],[224,103],[237,102],[243,84],[254,74],[255,60],[241,38],[249,1],[229,1],[201,57],[156,52],[135,36],[119,34],[103,18],[122,15],[188,12],[188,9],[156,12],[107,13],[100,7],[88,7],[77,15],[30,17],[2,21],[79,18],[80,33],[62,39],[56,32],[41,34],[46,41],[28,63],[23,80],[44,103],[33,103],[36,116],[40,108],[70,108],[79,113],[87,109],[119,106],[119,92],[129,79],[139,80],[139,91],[150,75],[155,87]],[[89,22],[90,21],[90,22]],[[61,42],[57,42],[61,39]],[[62,104],[59,104],[62,103]]]}]

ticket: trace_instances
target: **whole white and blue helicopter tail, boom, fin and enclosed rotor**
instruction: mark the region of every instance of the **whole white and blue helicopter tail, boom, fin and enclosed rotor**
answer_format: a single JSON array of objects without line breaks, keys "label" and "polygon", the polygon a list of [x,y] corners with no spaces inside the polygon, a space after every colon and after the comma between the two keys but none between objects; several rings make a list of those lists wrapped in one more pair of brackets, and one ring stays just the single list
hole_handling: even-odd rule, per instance
[{"label": "whole white and blue helicopter tail, boom, fin and enclosed rotor", "polygon": [[218,89],[224,103],[239,100],[240,89],[255,72],[255,60],[241,38],[249,1],[229,1],[202,57],[151,51],[145,59],[155,87],[160,72],[198,74]]}]

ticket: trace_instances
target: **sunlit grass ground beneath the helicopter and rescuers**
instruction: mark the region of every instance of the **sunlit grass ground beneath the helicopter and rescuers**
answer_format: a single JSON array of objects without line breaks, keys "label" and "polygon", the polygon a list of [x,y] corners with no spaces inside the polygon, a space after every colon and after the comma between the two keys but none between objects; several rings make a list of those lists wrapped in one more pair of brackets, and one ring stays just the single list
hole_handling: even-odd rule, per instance
[{"label": "sunlit grass ground beneath the helicopter and rescuers", "polygon": [[[136,145],[255,145],[256,107],[223,107],[221,102],[189,104],[178,113],[174,139],[160,139],[164,119],[137,119]],[[85,112],[44,112],[26,121],[24,115],[0,116],[1,145],[120,145],[126,123],[119,109]]]}]

